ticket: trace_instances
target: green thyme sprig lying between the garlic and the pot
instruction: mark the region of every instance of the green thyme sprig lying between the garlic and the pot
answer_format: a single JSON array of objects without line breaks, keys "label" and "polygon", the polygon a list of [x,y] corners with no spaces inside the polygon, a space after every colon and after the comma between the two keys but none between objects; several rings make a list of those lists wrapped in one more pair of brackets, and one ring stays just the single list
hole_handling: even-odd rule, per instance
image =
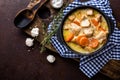
[{"label": "green thyme sprig lying between the garlic and the pot", "polygon": [[[40,52],[42,53],[46,48],[45,48],[45,46],[46,45],[50,45],[50,39],[51,39],[51,37],[53,36],[53,35],[55,35],[55,33],[57,32],[57,30],[58,30],[58,28],[59,28],[59,26],[58,26],[58,21],[60,21],[60,19],[62,19],[62,17],[63,17],[63,9],[65,8],[67,6],[67,4],[66,5],[64,5],[62,8],[61,8],[61,10],[59,11],[59,13],[58,13],[58,15],[57,16],[55,16],[54,18],[53,18],[53,22],[51,23],[51,32],[46,32],[45,33],[45,37],[44,37],[44,39],[42,40],[42,42],[40,43],[40,45],[41,45],[41,48],[40,48]],[[45,26],[45,25],[44,25]]]}]

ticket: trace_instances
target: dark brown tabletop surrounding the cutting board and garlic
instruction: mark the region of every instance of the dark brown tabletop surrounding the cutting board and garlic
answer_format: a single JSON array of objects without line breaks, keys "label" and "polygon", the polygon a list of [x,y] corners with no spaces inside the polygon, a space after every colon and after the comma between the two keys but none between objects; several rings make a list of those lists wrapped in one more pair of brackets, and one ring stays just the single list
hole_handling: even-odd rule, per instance
[{"label": "dark brown tabletop surrounding the cutting board and garlic", "polygon": [[[33,48],[26,47],[25,39],[29,36],[16,28],[13,20],[29,1],[0,0],[0,80],[89,80],[79,70],[78,62],[62,58],[49,50],[41,54],[37,41]],[[120,22],[120,2],[110,2],[117,22]],[[49,54],[56,57],[54,64],[46,60]],[[91,80],[112,79],[98,73]]]}]

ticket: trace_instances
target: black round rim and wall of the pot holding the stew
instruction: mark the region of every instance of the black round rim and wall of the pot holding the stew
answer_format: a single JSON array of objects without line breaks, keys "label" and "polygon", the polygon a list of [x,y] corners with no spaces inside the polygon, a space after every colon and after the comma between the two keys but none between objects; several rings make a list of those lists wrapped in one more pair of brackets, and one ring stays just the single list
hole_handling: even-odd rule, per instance
[{"label": "black round rim and wall of the pot holding the stew", "polygon": [[[76,11],[76,10],[78,10],[78,9],[86,9],[86,8],[91,8],[91,9],[94,9],[94,10],[98,11],[98,12],[105,18],[105,20],[107,21],[108,29],[109,29],[109,33],[108,33],[108,35],[107,35],[107,41],[106,41],[106,43],[104,43],[104,45],[103,45],[101,48],[99,48],[98,50],[96,50],[96,51],[94,51],[94,52],[91,52],[91,53],[87,53],[87,54],[86,54],[86,53],[80,53],[80,52],[77,52],[77,51],[71,49],[71,48],[67,45],[67,43],[65,42],[65,40],[64,40],[64,38],[63,38],[63,24],[64,24],[66,18],[67,18],[71,13],[73,13],[74,11]],[[99,10],[98,8],[96,8],[96,7],[94,7],[94,6],[79,6],[79,7],[76,7],[76,8],[74,8],[74,9],[70,10],[70,11],[64,16],[64,18],[63,18],[63,20],[62,20],[62,22],[61,22],[61,24],[60,24],[60,27],[59,27],[59,29],[58,29],[57,38],[58,38],[58,40],[61,42],[62,45],[66,46],[66,48],[67,48],[68,50],[72,51],[72,52],[75,53],[75,54],[79,54],[79,55],[93,55],[93,54],[95,54],[95,53],[98,53],[98,52],[102,51],[102,50],[105,48],[105,46],[106,46],[107,43],[109,42],[109,37],[110,37],[110,35],[111,35],[111,22],[110,22],[109,17],[106,16],[105,13],[103,13],[101,10]]]}]

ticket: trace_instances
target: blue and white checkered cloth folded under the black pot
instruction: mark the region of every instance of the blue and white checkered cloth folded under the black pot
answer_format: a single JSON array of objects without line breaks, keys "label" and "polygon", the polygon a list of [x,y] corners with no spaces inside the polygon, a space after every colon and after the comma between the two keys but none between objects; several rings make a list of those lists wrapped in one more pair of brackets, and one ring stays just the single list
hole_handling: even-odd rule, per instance
[{"label": "blue and white checkered cloth folded under the black pot", "polygon": [[[65,58],[80,58],[80,70],[83,71],[89,78],[94,76],[96,73],[100,71],[100,69],[110,60],[116,59],[120,60],[120,31],[116,27],[116,21],[112,15],[112,9],[110,8],[109,0],[89,0],[87,2],[80,2],[80,0],[75,0],[71,4],[69,4],[64,10],[63,17],[75,7],[89,5],[95,6],[100,9],[103,13],[105,13],[112,21],[114,27],[112,30],[112,34],[110,36],[110,40],[107,43],[107,46],[97,54],[90,56],[81,56],[79,54],[75,54],[69,51],[64,45],[62,45],[58,40],[56,35],[51,37],[51,43],[58,51],[58,53]],[[60,19],[57,22],[59,27]],[[52,24],[52,23],[51,23]],[[48,32],[52,31],[52,25],[48,26]]]}]

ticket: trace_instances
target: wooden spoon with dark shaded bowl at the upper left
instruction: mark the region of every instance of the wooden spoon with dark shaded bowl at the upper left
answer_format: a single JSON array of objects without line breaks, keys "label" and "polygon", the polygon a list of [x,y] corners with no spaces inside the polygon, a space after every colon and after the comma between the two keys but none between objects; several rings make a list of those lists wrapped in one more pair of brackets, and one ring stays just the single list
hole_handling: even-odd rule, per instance
[{"label": "wooden spoon with dark shaded bowl at the upper left", "polygon": [[31,0],[27,8],[18,12],[14,19],[14,24],[18,28],[24,28],[32,22],[41,2],[46,0]]}]

